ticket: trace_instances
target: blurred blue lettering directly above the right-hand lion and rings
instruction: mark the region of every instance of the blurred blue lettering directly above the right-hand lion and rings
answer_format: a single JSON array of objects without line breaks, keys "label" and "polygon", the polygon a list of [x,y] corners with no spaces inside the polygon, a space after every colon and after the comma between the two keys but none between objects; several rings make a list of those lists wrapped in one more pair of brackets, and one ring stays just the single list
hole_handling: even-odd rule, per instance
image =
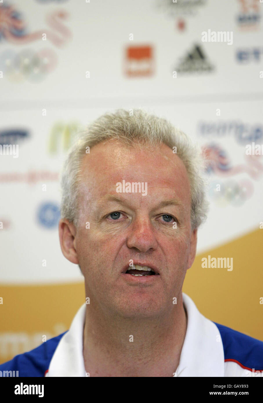
[{"label": "blurred blue lettering directly above the right-hand lion and rings", "polygon": [[243,123],[240,120],[201,121],[197,124],[197,133],[206,138],[234,137],[237,143],[246,145],[263,140],[263,125]]}]

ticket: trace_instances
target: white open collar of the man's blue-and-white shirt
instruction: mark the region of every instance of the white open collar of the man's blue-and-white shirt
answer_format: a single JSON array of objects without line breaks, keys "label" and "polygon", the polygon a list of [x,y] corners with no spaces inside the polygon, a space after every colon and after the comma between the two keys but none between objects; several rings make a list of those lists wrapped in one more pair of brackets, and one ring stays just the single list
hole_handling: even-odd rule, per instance
[{"label": "white open collar of the man's blue-and-white shirt", "polygon": [[[197,310],[183,293],[187,329],[176,376],[224,376],[224,349],[217,326]],[[86,304],[75,315],[60,339],[46,376],[86,376],[83,359],[83,329]]]}]

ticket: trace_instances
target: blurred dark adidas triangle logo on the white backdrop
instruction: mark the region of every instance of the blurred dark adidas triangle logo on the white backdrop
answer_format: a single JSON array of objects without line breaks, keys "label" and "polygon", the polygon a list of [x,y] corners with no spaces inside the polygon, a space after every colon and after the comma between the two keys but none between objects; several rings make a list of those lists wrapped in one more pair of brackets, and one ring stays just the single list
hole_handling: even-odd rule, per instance
[{"label": "blurred dark adidas triangle logo on the white backdrop", "polygon": [[211,72],[214,66],[207,60],[201,46],[193,46],[193,50],[180,61],[174,69],[177,73]]}]

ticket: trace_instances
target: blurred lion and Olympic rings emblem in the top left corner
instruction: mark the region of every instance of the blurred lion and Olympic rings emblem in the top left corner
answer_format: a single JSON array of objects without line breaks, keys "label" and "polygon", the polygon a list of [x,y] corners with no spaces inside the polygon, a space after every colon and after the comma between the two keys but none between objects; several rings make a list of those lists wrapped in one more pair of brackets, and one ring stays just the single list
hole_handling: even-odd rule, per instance
[{"label": "blurred lion and Olympic rings emblem in the top left corner", "polygon": [[[63,24],[67,17],[65,10],[53,11],[46,16],[50,29],[43,27],[28,33],[22,14],[14,6],[0,2],[0,42],[6,40],[15,45],[24,45],[36,40],[48,40],[60,48],[72,36],[71,31]],[[26,49],[18,54],[14,50],[6,50],[0,55],[0,72],[14,82],[25,79],[42,81],[56,64],[56,53],[48,48],[39,51]]]}]

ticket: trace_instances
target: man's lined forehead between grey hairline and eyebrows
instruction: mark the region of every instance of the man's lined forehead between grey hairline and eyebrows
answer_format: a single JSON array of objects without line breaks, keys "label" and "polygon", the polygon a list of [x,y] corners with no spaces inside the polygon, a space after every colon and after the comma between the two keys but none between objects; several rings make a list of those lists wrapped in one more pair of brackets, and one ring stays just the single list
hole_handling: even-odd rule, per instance
[{"label": "man's lined forehead between grey hairline and eyebrows", "polygon": [[[168,206],[165,202],[174,199],[176,202],[172,204],[182,208],[186,200],[188,202],[190,185],[186,168],[182,160],[165,144],[162,149],[149,151],[148,147],[142,145],[131,148],[116,141],[101,142],[91,148],[85,160],[82,167],[83,196],[93,199],[96,206],[114,201],[131,206],[144,199],[151,206],[163,202],[165,207]],[[125,193],[117,193],[117,183],[123,181]],[[147,195],[129,195],[129,190],[126,190],[126,184],[129,183],[131,187],[140,183],[141,189],[145,189],[147,183]]]}]

